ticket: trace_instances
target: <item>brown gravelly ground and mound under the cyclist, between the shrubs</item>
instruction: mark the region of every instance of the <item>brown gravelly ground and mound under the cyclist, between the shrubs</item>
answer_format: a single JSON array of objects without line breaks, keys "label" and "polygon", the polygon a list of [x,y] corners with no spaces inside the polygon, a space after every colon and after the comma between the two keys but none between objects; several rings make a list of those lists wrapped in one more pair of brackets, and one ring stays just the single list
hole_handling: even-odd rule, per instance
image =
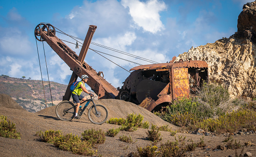
[{"label": "brown gravelly ground and mound under the cyclist, between the shrubs", "polygon": [[[118,128],[118,125],[104,123],[102,125],[92,124],[87,115],[83,116],[80,120],[60,121],[55,115],[55,106],[43,109],[36,113],[28,112],[24,109],[14,107],[13,101],[0,102],[0,115],[7,116],[7,119],[13,121],[16,124],[17,132],[21,133],[21,139],[9,139],[0,137],[0,157],[77,157],[70,152],[62,151],[56,148],[54,145],[43,143],[39,141],[39,138],[35,136],[37,131],[45,130],[61,130],[63,134],[73,133],[81,135],[87,129],[103,130],[107,132],[109,129]],[[10,102],[11,104],[8,104]],[[109,118],[125,118],[129,113],[142,114],[144,121],[149,121],[151,124],[157,126],[169,125],[172,130],[178,130],[177,126],[174,126],[166,121],[161,120],[153,113],[143,109],[137,105],[121,100],[105,99],[97,100],[96,103],[103,104],[109,111]],[[102,157],[126,157],[129,153],[135,152],[137,146],[150,145],[151,142],[147,140],[147,129],[138,129],[135,132],[120,131],[115,137],[106,136],[106,141],[102,145],[98,145],[98,155]],[[163,140],[157,144],[169,141],[175,141],[174,136],[171,136],[169,132],[160,132]],[[119,140],[119,136],[130,135],[134,141],[132,144],[128,144]],[[186,137],[185,142],[190,143],[190,139],[194,142],[199,142],[203,135],[189,134],[189,133],[176,133],[178,136]],[[247,135],[234,135],[234,139],[240,141],[242,145],[245,142],[251,141],[256,143],[256,134]],[[235,150],[228,149],[226,151],[213,151],[217,145],[225,145],[222,141],[225,139],[223,134],[215,136],[204,136],[205,144],[210,147],[209,150],[203,148],[197,148],[193,152],[187,152],[188,157],[235,157]],[[237,155],[241,153],[242,149],[237,150]],[[251,152],[252,156],[256,156],[256,146],[244,146],[243,153]]]}]

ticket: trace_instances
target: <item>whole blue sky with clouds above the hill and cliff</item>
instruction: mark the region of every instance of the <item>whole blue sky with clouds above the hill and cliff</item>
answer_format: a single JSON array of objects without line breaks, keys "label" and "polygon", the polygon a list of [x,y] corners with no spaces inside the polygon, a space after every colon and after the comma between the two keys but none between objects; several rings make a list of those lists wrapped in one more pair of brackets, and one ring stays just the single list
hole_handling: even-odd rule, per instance
[{"label": "whole blue sky with clouds above the hill and cliff", "polygon": [[[237,31],[237,19],[243,4],[250,0],[1,0],[0,2],[0,74],[40,80],[34,29],[50,23],[66,34],[85,38],[88,25],[97,25],[92,42],[125,51],[156,62],[229,37]],[[61,39],[75,42],[67,36]],[[67,43],[79,54],[80,48]],[[48,80],[42,42],[38,42],[43,80]],[[68,84],[71,71],[44,42],[50,81]],[[91,45],[90,48],[140,64],[129,58]],[[111,58],[129,70],[137,64]],[[129,73],[92,50],[85,61],[115,87]]]}]

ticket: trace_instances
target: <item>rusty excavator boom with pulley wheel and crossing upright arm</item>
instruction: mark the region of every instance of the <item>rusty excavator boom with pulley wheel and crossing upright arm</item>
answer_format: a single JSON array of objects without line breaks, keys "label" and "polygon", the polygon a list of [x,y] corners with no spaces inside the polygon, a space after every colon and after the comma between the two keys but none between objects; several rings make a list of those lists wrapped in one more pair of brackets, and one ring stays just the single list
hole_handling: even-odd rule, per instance
[{"label": "rusty excavator boom with pulley wheel and crossing upright arm", "polygon": [[115,98],[118,95],[118,90],[108,83],[100,73],[96,72],[84,60],[87,50],[89,48],[92,36],[97,26],[90,25],[85,41],[81,48],[79,56],[71,50],[62,40],[56,36],[55,27],[51,24],[41,23],[35,28],[35,37],[38,41],[46,41],[47,44],[57,53],[57,55],[66,62],[66,64],[73,71],[70,83],[67,87],[63,100],[70,100],[71,91],[70,86],[74,83],[78,76],[86,74],[90,78],[87,85],[98,95],[98,98]]}]

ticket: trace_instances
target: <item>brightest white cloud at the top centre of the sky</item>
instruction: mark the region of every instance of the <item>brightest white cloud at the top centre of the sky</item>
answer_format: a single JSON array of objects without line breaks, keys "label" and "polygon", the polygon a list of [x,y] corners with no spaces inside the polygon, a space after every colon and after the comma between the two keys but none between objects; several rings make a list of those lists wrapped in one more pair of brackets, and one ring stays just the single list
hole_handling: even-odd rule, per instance
[{"label": "brightest white cloud at the top centre of the sky", "polygon": [[156,33],[164,29],[159,15],[159,12],[167,9],[163,1],[121,0],[121,3],[124,7],[129,7],[129,14],[133,21],[145,31]]}]

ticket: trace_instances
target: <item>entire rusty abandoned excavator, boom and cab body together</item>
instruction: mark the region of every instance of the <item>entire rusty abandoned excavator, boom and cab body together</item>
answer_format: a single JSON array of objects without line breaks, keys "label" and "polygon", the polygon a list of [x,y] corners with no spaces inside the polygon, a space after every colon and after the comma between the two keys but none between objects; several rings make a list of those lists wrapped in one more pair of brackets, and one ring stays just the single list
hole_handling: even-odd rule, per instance
[{"label": "entire rusty abandoned excavator, boom and cab body together", "polygon": [[159,110],[179,97],[189,97],[191,91],[209,82],[208,64],[202,60],[179,60],[175,57],[168,63],[140,65],[132,71],[121,88],[115,88],[107,82],[102,72],[96,72],[84,60],[89,49],[96,25],[89,25],[79,55],[56,36],[56,29],[48,23],[40,23],[34,30],[38,41],[45,41],[71,68],[72,75],[63,96],[70,100],[70,86],[78,77],[89,76],[87,85],[98,95],[99,99],[116,98],[133,102],[149,111]]}]

